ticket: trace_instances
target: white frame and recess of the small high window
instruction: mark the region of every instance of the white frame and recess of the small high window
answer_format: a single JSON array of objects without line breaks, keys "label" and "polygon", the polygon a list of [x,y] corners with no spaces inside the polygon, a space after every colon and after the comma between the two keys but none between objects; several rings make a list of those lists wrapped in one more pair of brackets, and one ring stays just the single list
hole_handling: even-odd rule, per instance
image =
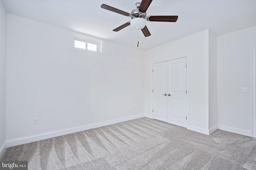
[{"label": "white frame and recess of the small high window", "polygon": [[[94,52],[102,52],[102,40],[100,40],[100,39],[97,39],[95,37],[91,37],[89,35],[75,33],[74,40],[85,42],[86,43],[86,50],[88,50],[88,43],[96,44],[97,45],[97,51],[94,51]],[[93,51],[93,50],[89,50],[89,51]]]}]

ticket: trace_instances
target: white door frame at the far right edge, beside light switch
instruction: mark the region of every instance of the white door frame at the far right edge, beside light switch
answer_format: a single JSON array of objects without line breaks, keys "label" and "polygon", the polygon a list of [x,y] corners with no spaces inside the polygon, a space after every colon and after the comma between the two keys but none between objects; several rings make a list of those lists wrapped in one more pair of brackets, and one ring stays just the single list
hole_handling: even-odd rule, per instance
[{"label": "white door frame at the far right edge, beside light switch", "polygon": [[256,137],[256,46],[251,47],[250,56],[250,96],[252,137]]}]

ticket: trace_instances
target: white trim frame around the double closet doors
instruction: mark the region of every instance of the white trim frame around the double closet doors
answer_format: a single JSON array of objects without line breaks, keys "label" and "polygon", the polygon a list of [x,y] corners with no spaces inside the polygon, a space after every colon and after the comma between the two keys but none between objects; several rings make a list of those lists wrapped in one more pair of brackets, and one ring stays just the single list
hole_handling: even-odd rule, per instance
[{"label": "white trim frame around the double closet doors", "polygon": [[167,59],[162,59],[162,60],[158,60],[158,61],[152,61],[151,62],[151,66],[150,66],[150,101],[151,101],[151,114],[150,117],[153,119],[153,97],[152,97],[152,90],[153,90],[153,64],[155,63],[162,63],[165,61],[170,61],[170,60],[175,60],[175,59],[181,59],[181,58],[186,58],[186,64],[187,64],[187,69],[186,69],[186,74],[187,74],[187,129],[190,129],[190,57],[189,54],[186,55],[180,55],[180,56],[176,56],[176,57],[170,57]]}]

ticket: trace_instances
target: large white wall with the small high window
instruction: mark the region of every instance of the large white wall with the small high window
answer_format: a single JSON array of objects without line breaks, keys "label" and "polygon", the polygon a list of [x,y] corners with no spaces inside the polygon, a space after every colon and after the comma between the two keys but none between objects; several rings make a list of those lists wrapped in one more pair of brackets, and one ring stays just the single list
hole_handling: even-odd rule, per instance
[{"label": "large white wall with the small high window", "polygon": [[73,31],[7,14],[7,143],[143,117],[142,54],[110,41],[103,41],[103,53],[77,49]]}]

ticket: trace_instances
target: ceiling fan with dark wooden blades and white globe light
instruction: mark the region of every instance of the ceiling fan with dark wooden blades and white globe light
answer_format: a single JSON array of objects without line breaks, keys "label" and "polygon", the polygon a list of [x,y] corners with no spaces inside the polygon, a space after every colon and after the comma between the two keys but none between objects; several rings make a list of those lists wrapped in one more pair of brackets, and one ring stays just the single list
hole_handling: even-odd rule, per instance
[{"label": "ceiling fan with dark wooden blades and white globe light", "polygon": [[102,4],[100,7],[109,10],[112,12],[116,12],[118,14],[122,14],[124,16],[128,16],[132,18],[131,21],[113,29],[113,31],[120,31],[121,29],[131,25],[134,29],[141,29],[142,33],[145,37],[150,36],[150,32],[146,26],[146,21],[162,21],[162,22],[176,22],[178,20],[178,16],[147,16],[146,10],[151,4],[152,0],[142,0],[142,2],[137,2],[135,4],[136,9],[132,10],[131,14],[128,12],[124,12],[112,6],[108,6],[106,4]]}]

